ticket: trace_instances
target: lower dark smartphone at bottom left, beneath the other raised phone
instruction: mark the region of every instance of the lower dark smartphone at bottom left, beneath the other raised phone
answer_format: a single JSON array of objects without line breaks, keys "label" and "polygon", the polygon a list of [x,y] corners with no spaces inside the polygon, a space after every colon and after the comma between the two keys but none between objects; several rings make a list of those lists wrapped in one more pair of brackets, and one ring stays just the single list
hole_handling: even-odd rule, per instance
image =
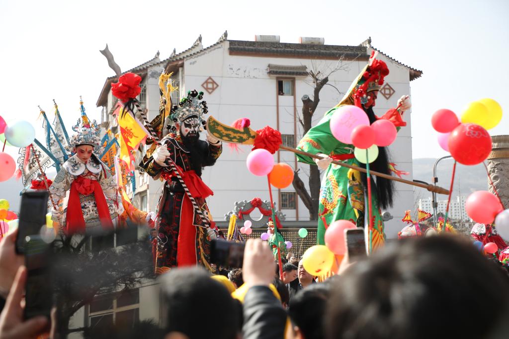
[{"label": "lower dark smartphone at bottom left, beneath the other raised phone", "polygon": [[46,316],[50,319],[53,305],[53,284],[50,273],[50,244],[40,235],[31,235],[25,244],[25,285],[24,318]]}]

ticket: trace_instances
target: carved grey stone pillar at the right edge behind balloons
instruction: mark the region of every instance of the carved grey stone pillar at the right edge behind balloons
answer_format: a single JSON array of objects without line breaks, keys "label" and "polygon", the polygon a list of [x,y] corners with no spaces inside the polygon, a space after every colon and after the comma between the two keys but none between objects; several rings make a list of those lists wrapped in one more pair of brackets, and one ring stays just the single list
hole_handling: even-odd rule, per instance
[{"label": "carved grey stone pillar at the right edge behind balloons", "polygon": [[[488,157],[488,172],[504,208],[509,208],[509,135],[492,137],[493,150]],[[495,193],[490,180],[488,188]]]}]

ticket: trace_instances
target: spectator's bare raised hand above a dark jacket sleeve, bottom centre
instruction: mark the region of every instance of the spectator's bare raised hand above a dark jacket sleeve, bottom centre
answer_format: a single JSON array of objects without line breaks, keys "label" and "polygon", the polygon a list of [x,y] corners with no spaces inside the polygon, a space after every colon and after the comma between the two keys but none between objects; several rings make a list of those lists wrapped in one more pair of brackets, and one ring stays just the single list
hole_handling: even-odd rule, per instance
[{"label": "spectator's bare raised hand above a dark jacket sleeve, bottom centre", "polygon": [[274,256],[262,239],[247,239],[242,264],[247,286],[269,286],[274,280]]}]

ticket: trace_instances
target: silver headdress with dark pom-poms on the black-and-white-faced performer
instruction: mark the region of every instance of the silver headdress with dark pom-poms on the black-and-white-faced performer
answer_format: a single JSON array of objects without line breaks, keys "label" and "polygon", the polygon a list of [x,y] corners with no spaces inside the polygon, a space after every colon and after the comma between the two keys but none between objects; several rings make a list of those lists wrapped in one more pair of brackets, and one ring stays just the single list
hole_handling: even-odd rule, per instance
[{"label": "silver headdress with dark pom-poms on the black-and-white-faced performer", "polygon": [[187,118],[196,117],[200,120],[203,125],[203,129],[206,129],[207,121],[203,118],[204,114],[207,114],[208,107],[207,102],[203,99],[203,92],[198,92],[196,89],[187,92],[187,97],[182,98],[178,105],[174,105],[170,111],[169,117],[173,124],[171,130],[177,132],[177,124],[181,124]]}]

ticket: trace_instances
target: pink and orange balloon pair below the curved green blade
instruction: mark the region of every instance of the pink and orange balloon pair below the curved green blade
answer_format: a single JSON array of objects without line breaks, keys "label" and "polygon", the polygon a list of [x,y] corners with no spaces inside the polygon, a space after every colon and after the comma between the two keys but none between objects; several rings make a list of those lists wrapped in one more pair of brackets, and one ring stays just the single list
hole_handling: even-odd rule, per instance
[{"label": "pink and orange balloon pair below the curved green blade", "polygon": [[272,153],[263,148],[257,148],[249,153],[246,159],[249,172],[258,176],[269,176],[269,182],[278,189],[290,186],[294,171],[288,164],[274,164]]}]

